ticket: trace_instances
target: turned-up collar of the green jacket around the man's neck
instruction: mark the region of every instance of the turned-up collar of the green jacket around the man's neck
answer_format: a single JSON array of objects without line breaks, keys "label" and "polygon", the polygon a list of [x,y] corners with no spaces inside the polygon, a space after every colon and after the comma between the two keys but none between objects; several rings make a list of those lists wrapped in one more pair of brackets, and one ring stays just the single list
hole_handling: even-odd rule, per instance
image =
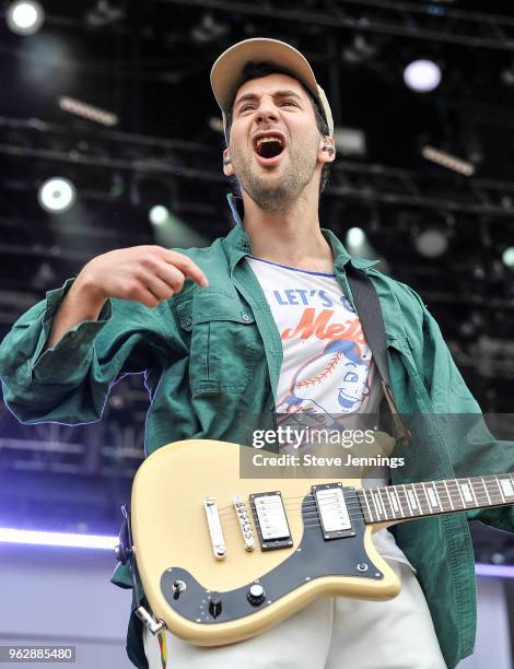
[{"label": "turned-up collar of the green jacket around the man's neck", "polygon": [[[232,193],[226,196],[229,206],[232,211],[232,218],[234,221],[233,230],[224,237],[223,244],[225,246],[225,253],[227,254],[230,271],[232,271],[237,262],[244,256],[248,256],[252,253],[249,237],[243,226],[243,200]],[[322,234],[325,239],[330,244],[334,254],[334,267],[336,269],[343,269],[347,262],[357,269],[365,270],[373,267],[379,260],[367,260],[365,258],[357,258],[350,256],[339,238],[331,232],[322,227]]]}]

